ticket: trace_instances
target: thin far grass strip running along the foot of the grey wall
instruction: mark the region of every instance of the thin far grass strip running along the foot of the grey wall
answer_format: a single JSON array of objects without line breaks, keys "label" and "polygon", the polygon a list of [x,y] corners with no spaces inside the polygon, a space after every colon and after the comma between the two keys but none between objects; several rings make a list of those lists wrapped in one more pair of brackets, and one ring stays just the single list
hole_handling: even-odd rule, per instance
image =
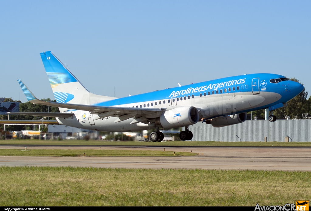
[{"label": "thin far grass strip running along the foot of the grey wall", "polygon": [[230,146],[230,147],[311,147],[311,142],[214,142],[214,141],[169,141],[169,142],[138,142],[138,141],[96,141],[96,140],[0,140],[1,144],[12,145],[98,145],[98,146]]}]

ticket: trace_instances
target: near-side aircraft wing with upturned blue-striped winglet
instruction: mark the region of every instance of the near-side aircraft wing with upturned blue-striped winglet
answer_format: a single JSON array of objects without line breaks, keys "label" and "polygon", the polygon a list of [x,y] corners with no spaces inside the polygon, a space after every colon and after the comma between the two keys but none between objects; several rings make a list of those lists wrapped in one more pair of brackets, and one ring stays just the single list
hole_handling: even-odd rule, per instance
[{"label": "near-side aircraft wing with upturned blue-striped winglet", "polygon": [[[107,116],[123,116],[127,114],[145,116],[145,115],[151,115],[151,114],[157,114],[157,113],[160,116],[160,114],[162,113],[161,108],[125,108],[125,107],[96,106],[96,105],[56,103],[56,102],[50,102],[50,101],[42,101],[42,100],[37,99],[21,80],[18,79],[17,81],[19,85],[21,86],[21,89],[23,90],[27,100],[34,104],[67,108],[71,110],[89,111],[93,114],[102,114],[102,113],[109,114]],[[35,115],[35,116],[40,116],[40,115]]]}]

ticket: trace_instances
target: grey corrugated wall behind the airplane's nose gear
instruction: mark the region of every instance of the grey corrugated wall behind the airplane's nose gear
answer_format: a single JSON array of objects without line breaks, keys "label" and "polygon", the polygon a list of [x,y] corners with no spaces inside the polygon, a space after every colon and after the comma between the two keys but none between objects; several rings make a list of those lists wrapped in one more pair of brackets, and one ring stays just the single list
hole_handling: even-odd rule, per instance
[{"label": "grey corrugated wall behind the airplane's nose gear", "polygon": [[[189,126],[192,141],[289,141],[311,142],[311,120],[246,120],[237,125],[215,128],[199,122]],[[270,135],[271,134],[271,135]]]}]

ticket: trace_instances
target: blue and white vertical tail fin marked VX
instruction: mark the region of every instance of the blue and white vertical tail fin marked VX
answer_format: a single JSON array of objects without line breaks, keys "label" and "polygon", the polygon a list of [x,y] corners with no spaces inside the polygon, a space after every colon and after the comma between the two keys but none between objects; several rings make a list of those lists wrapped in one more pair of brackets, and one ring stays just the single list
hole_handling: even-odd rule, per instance
[{"label": "blue and white vertical tail fin marked VX", "polygon": [[115,99],[90,93],[51,51],[40,53],[40,55],[58,103],[89,105]]}]

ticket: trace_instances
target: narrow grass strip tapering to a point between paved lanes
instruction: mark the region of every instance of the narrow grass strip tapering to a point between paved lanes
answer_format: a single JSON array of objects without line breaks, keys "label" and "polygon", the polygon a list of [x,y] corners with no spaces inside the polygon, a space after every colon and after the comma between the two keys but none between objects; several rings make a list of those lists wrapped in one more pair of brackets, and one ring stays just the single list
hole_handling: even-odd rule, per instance
[{"label": "narrow grass strip tapering to a point between paved lanes", "polygon": [[172,151],[155,151],[155,150],[72,150],[72,149],[0,149],[0,156],[91,156],[91,157],[106,157],[106,156],[194,156],[197,153],[190,152],[174,152]]}]

